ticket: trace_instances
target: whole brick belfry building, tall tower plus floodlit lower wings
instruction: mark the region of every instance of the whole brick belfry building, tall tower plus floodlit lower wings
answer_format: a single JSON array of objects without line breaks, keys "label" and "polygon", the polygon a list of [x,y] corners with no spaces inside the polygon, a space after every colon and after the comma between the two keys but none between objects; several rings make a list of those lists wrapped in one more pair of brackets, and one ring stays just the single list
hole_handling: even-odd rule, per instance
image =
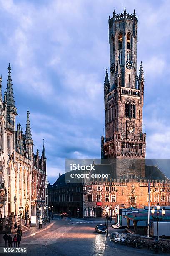
[{"label": "whole brick belfry building, tall tower plus floodlit lower wings", "polygon": [[[104,216],[120,207],[170,205],[170,181],[158,166],[145,164],[146,134],[143,129],[144,74],[137,72],[138,16],[126,12],[109,17],[110,80],[104,83],[105,137],[101,138],[101,164],[96,168],[113,174],[112,179],[82,179],[65,183],[62,174],[49,189],[49,201],[56,212],[71,215]],[[109,164],[105,163],[105,159]]]}]

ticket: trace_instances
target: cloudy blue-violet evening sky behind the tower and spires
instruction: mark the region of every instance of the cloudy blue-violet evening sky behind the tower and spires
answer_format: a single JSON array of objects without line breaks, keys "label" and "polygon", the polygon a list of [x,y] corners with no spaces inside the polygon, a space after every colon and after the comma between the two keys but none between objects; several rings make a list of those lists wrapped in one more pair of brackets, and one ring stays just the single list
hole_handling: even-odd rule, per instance
[{"label": "cloudy blue-violet evening sky behind the tower and spires", "polygon": [[41,154],[45,140],[50,184],[65,172],[66,158],[100,158],[108,17],[122,6],[138,15],[146,156],[169,158],[169,0],[0,0],[2,91],[10,62],[17,123],[25,131],[29,109],[34,152]]}]

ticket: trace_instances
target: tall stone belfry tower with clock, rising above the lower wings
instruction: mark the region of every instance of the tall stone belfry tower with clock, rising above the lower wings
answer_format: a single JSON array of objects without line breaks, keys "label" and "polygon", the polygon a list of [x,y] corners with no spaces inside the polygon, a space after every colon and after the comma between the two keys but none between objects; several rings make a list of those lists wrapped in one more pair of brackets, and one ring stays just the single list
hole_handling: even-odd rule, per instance
[{"label": "tall stone belfry tower with clock, rising above the lower wings", "polygon": [[[137,75],[138,16],[109,17],[110,81],[104,83],[105,141],[102,158],[113,159],[117,178],[145,177],[145,133],[143,133],[143,67]],[[116,161],[115,161],[116,159]]]}]

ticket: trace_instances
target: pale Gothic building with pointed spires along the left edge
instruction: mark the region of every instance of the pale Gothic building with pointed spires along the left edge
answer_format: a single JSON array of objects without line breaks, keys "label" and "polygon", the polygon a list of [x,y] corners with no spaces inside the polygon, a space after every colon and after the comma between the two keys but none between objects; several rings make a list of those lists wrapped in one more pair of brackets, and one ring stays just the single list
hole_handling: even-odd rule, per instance
[{"label": "pale Gothic building with pointed spires along the left edge", "polygon": [[46,156],[34,156],[33,139],[27,111],[26,130],[16,125],[17,108],[13,95],[11,67],[8,67],[7,89],[2,100],[0,78],[0,217],[16,214],[23,206],[23,217],[36,214],[37,205],[45,205]]}]

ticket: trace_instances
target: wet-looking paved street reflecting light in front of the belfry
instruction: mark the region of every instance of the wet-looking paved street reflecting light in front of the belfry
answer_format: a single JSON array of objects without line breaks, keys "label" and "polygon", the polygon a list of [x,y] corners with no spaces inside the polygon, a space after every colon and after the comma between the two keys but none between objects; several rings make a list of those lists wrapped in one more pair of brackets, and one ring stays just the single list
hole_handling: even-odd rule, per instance
[{"label": "wet-looking paved street reflecting light in front of the belfry", "polygon": [[[24,235],[21,246],[28,247],[28,256],[153,255],[153,252],[147,249],[135,249],[115,244],[105,234],[95,233],[95,226],[98,222],[100,221],[55,220],[53,224],[50,223],[50,228],[43,232],[34,233],[29,237]],[[116,230],[110,226],[109,233],[111,231],[124,232],[123,229]]]}]

